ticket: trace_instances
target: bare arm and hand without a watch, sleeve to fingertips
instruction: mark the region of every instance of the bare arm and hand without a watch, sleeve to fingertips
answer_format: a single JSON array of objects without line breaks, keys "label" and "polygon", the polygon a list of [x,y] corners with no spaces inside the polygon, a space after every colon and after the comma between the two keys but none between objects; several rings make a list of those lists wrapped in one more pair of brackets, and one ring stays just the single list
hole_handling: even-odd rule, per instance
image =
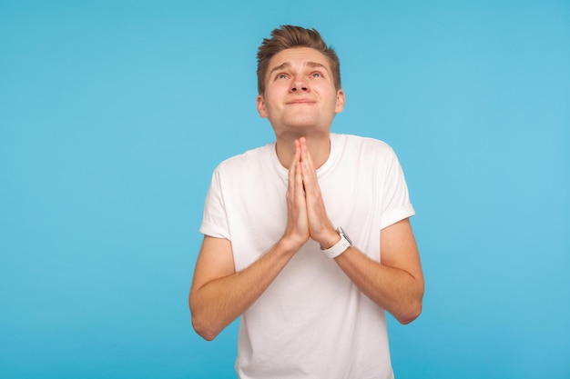
[{"label": "bare arm and hand without a watch, sleeve to fingertips", "polygon": [[214,339],[243,314],[309,239],[299,161],[297,149],[290,166],[285,233],[256,262],[236,272],[231,242],[224,238],[204,237],[188,299],[192,325],[203,338]]}]

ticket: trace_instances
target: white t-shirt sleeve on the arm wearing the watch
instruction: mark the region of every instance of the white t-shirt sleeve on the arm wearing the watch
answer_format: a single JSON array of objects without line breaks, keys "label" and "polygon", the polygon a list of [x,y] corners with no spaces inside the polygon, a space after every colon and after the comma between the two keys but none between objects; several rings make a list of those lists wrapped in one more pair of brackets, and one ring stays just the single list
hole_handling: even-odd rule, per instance
[{"label": "white t-shirt sleeve on the arm wearing the watch", "polygon": [[383,177],[381,229],[414,214],[415,211],[410,203],[410,194],[408,194],[408,186],[402,166],[391,149],[386,159]]}]

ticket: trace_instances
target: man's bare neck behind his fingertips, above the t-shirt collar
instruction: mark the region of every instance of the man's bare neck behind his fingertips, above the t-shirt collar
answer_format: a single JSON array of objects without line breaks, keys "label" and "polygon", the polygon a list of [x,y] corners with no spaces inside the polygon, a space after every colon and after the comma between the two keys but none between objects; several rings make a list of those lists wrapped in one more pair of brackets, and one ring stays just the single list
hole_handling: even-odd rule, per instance
[{"label": "man's bare neck behind his fingertips, above the t-shirt collar", "polygon": [[289,168],[295,155],[295,140],[300,137],[305,137],[307,141],[307,148],[315,168],[324,165],[331,154],[331,133],[328,131],[319,135],[278,135],[275,148],[280,164]]}]

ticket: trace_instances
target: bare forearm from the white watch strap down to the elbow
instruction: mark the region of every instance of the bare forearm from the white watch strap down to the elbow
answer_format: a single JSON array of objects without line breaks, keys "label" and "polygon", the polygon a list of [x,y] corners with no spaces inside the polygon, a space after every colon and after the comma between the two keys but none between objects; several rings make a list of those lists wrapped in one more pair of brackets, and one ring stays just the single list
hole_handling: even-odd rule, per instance
[{"label": "bare forearm from the white watch strap down to the elbow", "polygon": [[372,261],[353,246],[334,259],[363,294],[400,323],[409,324],[422,312],[422,277]]}]

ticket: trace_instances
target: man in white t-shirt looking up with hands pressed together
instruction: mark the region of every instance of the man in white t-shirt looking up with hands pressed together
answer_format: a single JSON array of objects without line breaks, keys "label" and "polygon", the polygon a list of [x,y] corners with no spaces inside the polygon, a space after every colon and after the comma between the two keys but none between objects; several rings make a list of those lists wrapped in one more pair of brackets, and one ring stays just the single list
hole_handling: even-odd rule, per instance
[{"label": "man in white t-shirt looking up with hands pressed together", "polygon": [[240,378],[392,378],[384,310],[402,324],[422,310],[396,156],[331,134],[339,67],[314,29],[274,30],[258,51],[257,108],[276,142],[212,178],[189,305],[207,340],[241,316]]}]

